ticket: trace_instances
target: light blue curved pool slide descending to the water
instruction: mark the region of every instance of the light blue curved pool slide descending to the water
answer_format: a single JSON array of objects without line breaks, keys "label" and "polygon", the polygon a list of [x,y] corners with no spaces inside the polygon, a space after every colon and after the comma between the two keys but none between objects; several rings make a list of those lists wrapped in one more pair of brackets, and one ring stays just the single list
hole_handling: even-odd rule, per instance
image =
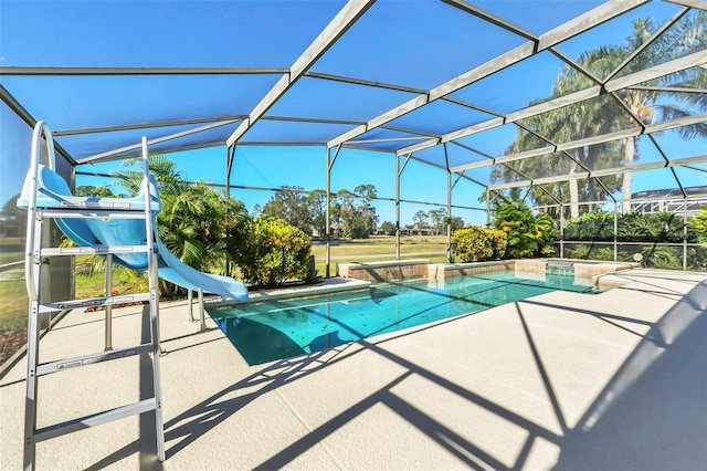
[{"label": "light blue curved pool slide descending to the water", "polygon": [[[50,151],[50,167],[54,167],[52,151]],[[50,167],[42,164],[36,165],[35,207],[68,210],[66,218],[55,218],[55,221],[59,228],[74,243],[80,247],[125,247],[125,251],[114,254],[115,262],[133,270],[147,270],[147,253],[128,249],[129,247],[145,245],[147,243],[146,220],[145,218],[122,218],[118,211],[145,211],[147,205],[145,191],[146,188],[149,188],[149,205],[154,219],[151,224],[152,237],[158,253],[159,278],[188,290],[202,290],[204,293],[238,301],[247,300],[247,287],[244,284],[229,276],[194,270],[180,261],[165,247],[157,233],[156,218],[161,210],[159,191],[155,178],[147,170],[140,186],[143,190],[138,196],[134,198],[95,198],[73,196],[66,181]],[[18,199],[19,207],[29,208],[31,205],[32,174],[33,169],[31,168],[22,188],[22,193]],[[115,210],[116,213],[115,217],[102,219],[75,217],[81,211],[91,210]],[[144,214],[146,213],[144,212]]]}]

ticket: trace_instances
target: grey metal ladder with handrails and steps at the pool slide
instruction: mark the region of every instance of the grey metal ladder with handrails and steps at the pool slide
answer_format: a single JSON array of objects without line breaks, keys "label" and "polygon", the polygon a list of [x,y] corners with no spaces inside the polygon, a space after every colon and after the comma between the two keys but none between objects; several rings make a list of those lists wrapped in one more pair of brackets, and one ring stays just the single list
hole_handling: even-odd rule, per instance
[{"label": "grey metal ladder with handrails and steps at the pool slide", "polygon": [[[42,149],[44,148],[44,153]],[[48,164],[41,163],[42,154]],[[28,374],[27,399],[24,418],[24,469],[34,469],[36,443],[59,436],[71,433],[88,427],[95,427],[109,421],[123,419],[137,414],[155,411],[155,427],[157,437],[157,456],[165,460],[165,432],[161,409],[160,365],[159,365],[159,299],[158,299],[158,249],[154,240],[154,216],[160,210],[159,200],[151,197],[148,179],[147,139],[143,138],[144,178],[140,195],[136,198],[64,198],[65,191],[52,192],[48,188],[65,187],[65,182],[54,172],[54,144],[49,127],[39,122],[32,136],[31,167],[24,182],[18,206],[27,208],[27,250],[25,250],[25,281],[29,295],[28,321]],[[49,166],[49,167],[48,167]],[[60,181],[61,180],[61,181]],[[68,192],[70,193],[70,192]],[[91,219],[106,220],[134,219],[145,223],[145,242],[133,245],[106,245],[91,243],[86,247],[54,248],[44,247],[43,232],[45,222],[55,219],[57,222],[74,221],[81,230],[81,224]],[[62,227],[62,229],[64,229]],[[110,292],[110,261],[113,255],[126,253],[144,253],[147,259],[149,290],[147,293],[113,296]],[[42,299],[42,276],[46,276],[42,269],[43,262],[51,257],[77,254],[105,255],[106,293],[103,297],[87,300],[68,300],[50,302]],[[140,345],[113,349],[109,344],[109,308],[114,304],[147,301],[149,303],[149,341]],[[106,306],[106,350],[92,353],[72,358],[39,363],[40,348],[40,316],[56,311],[67,311],[81,307]],[[138,402],[128,404],[110,410],[93,414],[83,418],[62,423],[36,428],[38,416],[38,381],[50,374],[57,374],[67,369],[125,358],[134,355],[147,355],[152,366],[152,397]],[[67,399],[67,404],[70,400]]]}]

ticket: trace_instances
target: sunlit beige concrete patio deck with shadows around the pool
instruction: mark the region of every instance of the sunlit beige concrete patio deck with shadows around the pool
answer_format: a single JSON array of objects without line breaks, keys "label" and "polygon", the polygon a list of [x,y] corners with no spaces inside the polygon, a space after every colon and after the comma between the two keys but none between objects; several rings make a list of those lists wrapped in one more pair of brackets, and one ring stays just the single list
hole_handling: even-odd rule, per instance
[{"label": "sunlit beige concrete patio deck with shadows around the pool", "polygon": [[[162,304],[167,460],[146,414],[39,443],[38,469],[707,469],[707,275],[614,276],[254,367]],[[114,316],[114,346],[139,343],[143,310]],[[101,352],[102,320],[70,313],[41,360]],[[0,381],[2,470],[22,467],[24,375]],[[130,357],[43,377],[39,426],[136,401],[150,375]]]}]

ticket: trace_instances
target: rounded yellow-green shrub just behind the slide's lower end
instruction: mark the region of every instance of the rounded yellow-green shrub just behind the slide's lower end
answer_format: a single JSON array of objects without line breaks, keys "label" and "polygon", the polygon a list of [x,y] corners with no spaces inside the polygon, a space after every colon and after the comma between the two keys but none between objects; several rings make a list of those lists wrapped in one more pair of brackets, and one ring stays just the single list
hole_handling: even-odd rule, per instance
[{"label": "rounded yellow-green shrub just behind the slide's lower end", "polygon": [[307,276],[312,240],[282,219],[243,218],[231,242],[234,261],[249,284],[270,287]]}]

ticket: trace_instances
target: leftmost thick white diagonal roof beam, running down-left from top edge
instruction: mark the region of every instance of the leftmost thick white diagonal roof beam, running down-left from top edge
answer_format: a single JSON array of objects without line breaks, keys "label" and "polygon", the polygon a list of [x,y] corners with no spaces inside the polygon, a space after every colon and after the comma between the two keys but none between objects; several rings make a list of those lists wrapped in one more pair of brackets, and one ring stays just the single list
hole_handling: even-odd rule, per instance
[{"label": "leftmost thick white diagonal roof beam, running down-left from top edge", "polygon": [[257,119],[267,112],[279,100],[283,94],[305,73],[307,70],[331,48],[337,40],[373,4],[374,0],[350,0],[339,13],[327,24],[319,35],[309,44],[305,52],[289,67],[289,73],[283,75],[267,94],[260,101],[245,119],[231,134],[226,140],[230,147],[238,142],[243,134]]}]

